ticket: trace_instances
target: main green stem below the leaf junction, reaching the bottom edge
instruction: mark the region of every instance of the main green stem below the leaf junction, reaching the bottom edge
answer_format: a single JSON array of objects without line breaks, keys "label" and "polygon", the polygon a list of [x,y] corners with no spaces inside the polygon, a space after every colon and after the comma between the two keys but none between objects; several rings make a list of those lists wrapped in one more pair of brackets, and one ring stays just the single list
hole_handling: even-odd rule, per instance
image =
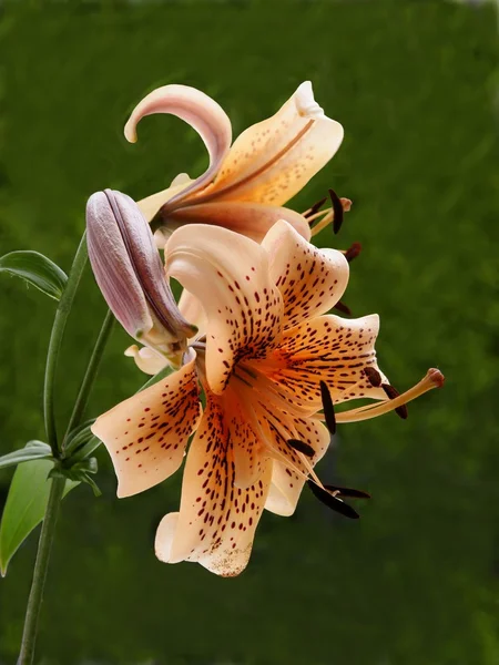
[{"label": "main green stem below the leaf junction, reaching the bottom edge", "polygon": [[18,665],[31,665],[34,655],[34,643],[37,640],[38,620],[40,616],[43,587],[45,585],[47,569],[49,566],[50,550],[55,532],[62,494],[64,492],[65,479],[54,478],[50,488],[47,512],[43,519],[40,541],[38,543],[37,562],[34,564],[33,582],[31,584],[28,608],[26,612],[24,630],[22,633],[21,653]]}]

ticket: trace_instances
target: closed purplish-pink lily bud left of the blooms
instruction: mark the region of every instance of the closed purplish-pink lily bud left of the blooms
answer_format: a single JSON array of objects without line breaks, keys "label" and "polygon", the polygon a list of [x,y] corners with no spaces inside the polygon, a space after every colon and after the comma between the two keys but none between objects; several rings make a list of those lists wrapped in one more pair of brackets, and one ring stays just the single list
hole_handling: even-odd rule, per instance
[{"label": "closed purplish-pink lily bud left of the blooms", "polygon": [[86,233],[90,263],[114,316],[132,337],[180,364],[195,328],[179,311],[135,202],[111,190],[92,194]]}]

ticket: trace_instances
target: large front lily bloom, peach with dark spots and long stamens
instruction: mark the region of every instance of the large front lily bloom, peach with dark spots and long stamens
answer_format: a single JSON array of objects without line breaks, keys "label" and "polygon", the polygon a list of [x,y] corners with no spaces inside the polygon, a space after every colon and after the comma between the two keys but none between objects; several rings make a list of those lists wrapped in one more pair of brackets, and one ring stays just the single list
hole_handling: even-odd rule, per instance
[{"label": "large front lily bloom, peach with dark spots and long stamens", "polygon": [[[376,361],[377,315],[325,314],[346,288],[345,256],[315,248],[287,222],[262,245],[218,226],[182,227],[165,247],[165,269],[203,305],[205,336],[179,371],[98,418],[92,431],[111,454],[119,497],[175,472],[194,433],[180,511],[161,521],[156,555],[237,575],[264,508],[291,515],[306,481],[323,501],[358,516],[342,497],[366,494],[323,485],[314,472],[335,420],[400,408],[441,375],[390,399]],[[335,419],[333,403],[356,398],[380,401]]]}]

